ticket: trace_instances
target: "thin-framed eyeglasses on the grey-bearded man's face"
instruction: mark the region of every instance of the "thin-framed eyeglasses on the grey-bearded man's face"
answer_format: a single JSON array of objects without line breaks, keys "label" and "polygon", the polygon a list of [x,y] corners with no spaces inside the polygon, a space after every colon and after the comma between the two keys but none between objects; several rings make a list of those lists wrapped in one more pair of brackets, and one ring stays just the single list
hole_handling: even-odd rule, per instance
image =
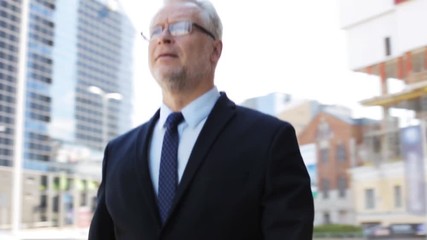
[{"label": "thin-framed eyeglasses on the grey-bearded man's face", "polygon": [[[206,28],[200,26],[199,24],[193,23],[192,21],[179,21],[179,22],[169,23],[166,26],[167,26],[167,31],[170,33],[170,35],[174,37],[190,34],[194,28],[204,34],[209,35],[211,38],[215,40],[215,36],[211,32],[209,32],[208,30],[206,30]],[[165,30],[164,25],[163,26],[157,25],[151,28],[149,39],[146,38],[143,33],[141,33],[141,35],[146,40],[152,40],[152,39],[158,38],[163,33],[164,30]]]}]

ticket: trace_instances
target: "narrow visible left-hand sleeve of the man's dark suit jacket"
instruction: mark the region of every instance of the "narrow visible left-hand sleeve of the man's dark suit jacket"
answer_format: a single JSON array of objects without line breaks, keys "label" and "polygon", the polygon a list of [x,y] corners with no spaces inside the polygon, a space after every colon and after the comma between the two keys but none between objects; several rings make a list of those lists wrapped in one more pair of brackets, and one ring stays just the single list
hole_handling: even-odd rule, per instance
[{"label": "narrow visible left-hand sleeve of the man's dark suit jacket", "polygon": [[107,183],[108,146],[102,163],[102,182],[98,189],[97,206],[89,229],[89,240],[115,240],[114,223],[105,202]]}]

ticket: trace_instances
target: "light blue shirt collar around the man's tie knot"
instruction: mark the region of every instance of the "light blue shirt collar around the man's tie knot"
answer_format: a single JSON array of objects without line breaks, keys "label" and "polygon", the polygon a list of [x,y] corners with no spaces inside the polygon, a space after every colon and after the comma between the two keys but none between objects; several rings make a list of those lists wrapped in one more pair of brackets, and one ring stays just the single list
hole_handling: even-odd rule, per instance
[{"label": "light blue shirt collar around the man's tie knot", "polygon": [[[213,87],[211,90],[193,100],[181,110],[182,115],[184,116],[184,121],[191,128],[197,126],[209,115],[219,97],[220,94],[218,89]],[[164,126],[166,118],[171,112],[172,110],[163,103],[160,107],[160,126]]]}]

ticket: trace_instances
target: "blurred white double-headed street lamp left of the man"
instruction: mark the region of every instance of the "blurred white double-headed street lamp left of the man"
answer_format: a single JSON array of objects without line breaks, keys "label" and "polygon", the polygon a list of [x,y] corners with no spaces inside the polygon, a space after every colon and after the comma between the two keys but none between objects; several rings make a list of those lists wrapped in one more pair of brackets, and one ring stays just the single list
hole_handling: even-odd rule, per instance
[{"label": "blurred white double-headed street lamp left of the man", "polygon": [[90,93],[99,95],[102,98],[102,143],[105,145],[108,141],[108,103],[110,99],[121,100],[120,93],[111,92],[107,93],[99,87],[88,87]]}]

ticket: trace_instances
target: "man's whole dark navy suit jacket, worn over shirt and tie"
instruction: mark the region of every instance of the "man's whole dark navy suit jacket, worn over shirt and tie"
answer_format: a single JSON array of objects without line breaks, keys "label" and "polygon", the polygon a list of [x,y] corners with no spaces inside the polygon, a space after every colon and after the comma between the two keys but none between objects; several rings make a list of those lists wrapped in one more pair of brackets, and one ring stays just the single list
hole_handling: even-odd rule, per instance
[{"label": "man's whole dark navy suit jacket, worn over shirt and tie", "polygon": [[311,240],[313,198],[293,127],[224,93],[162,225],[148,166],[159,118],[112,140],[89,240]]}]

